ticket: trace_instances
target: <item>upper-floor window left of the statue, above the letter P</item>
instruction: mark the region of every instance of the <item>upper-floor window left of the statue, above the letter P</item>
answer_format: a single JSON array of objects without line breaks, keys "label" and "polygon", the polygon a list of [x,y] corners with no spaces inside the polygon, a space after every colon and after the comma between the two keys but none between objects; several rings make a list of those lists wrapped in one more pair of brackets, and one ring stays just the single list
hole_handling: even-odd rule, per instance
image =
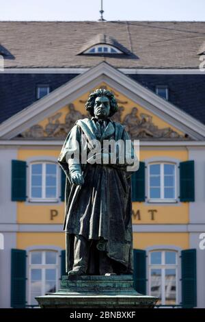
[{"label": "upper-floor window left of the statue, above the letter P", "polygon": [[59,171],[54,162],[30,164],[30,201],[57,201]]}]

